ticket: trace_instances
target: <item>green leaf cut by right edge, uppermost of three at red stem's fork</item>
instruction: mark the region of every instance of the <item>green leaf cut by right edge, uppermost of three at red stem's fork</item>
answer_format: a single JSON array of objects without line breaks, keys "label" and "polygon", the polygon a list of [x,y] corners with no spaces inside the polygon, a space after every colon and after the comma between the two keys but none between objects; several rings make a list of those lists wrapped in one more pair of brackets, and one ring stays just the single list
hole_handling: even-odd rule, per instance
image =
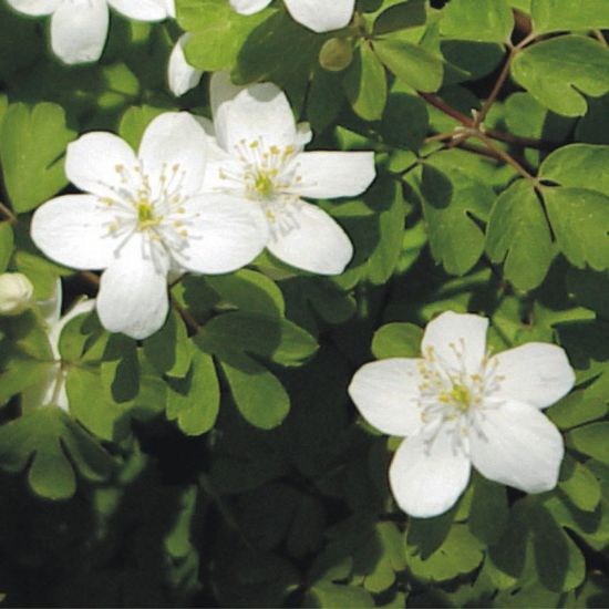
[{"label": "green leaf cut by right edge, uppermost of three at red stem's fork", "polygon": [[609,193],[609,146],[569,144],[549,154],[539,167],[539,177],[560,186]]}]

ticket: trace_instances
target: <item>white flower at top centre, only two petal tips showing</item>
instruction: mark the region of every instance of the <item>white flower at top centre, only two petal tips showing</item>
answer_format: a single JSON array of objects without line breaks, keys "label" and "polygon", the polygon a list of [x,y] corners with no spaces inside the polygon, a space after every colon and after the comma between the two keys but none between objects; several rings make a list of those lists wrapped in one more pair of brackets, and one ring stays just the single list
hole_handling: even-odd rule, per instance
[{"label": "white flower at top centre, only two petal tips showing", "polygon": [[[241,14],[254,14],[271,3],[271,0],[230,0],[230,6]],[[313,32],[330,32],[344,28],[355,7],[355,0],[283,0],[295,21]]]}]

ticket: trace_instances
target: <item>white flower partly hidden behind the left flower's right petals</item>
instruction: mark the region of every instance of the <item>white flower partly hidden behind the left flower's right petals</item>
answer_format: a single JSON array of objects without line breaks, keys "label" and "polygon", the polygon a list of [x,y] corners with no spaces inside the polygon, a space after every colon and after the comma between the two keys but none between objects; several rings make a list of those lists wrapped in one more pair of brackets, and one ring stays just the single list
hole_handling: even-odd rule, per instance
[{"label": "white flower partly hidden behind the left flower's right petals", "polygon": [[[270,228],[269,250],[308,271],[338,275],[353,248],[342,228],[300,197],[350,197],[374,179],[371,152],[302,152],[311,140],[296,125],[286,95],[273,84],[237,87],[227,73],[211,78],[206,189],[255,203]],[[215,128],[215,132],[214,132]]]}]

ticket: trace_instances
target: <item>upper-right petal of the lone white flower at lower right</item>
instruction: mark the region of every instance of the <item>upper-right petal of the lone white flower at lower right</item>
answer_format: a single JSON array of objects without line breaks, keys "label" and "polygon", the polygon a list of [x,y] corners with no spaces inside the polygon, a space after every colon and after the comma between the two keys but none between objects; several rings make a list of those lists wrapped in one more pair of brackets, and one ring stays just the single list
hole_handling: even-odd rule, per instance
[{"label": "upper-right petal of the lone white flower at lower right", "polygon": [[[496,362],[496,363],[495,363]],[[575,384],[575,372],[565,351],[556,344],[529,342],[491,358],[497,365],[499,398],[545,409],[565,396]]]}]

